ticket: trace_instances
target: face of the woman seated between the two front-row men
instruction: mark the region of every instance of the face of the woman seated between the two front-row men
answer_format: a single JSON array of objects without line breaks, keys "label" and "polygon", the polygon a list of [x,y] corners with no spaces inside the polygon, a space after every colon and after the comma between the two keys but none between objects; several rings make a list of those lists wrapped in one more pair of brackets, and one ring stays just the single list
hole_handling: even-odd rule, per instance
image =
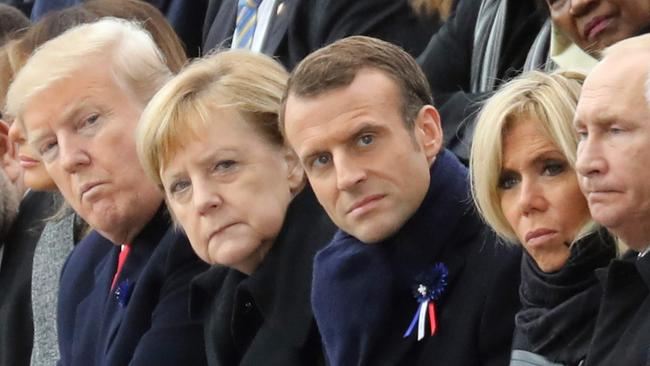
[{"label": "face of the woman seated between the two front-row men", "polygon": [[302,169],[230,109],[213,111],[207,126],[161,169],[167,203],[201,259],[252,273],[282,228]]}]

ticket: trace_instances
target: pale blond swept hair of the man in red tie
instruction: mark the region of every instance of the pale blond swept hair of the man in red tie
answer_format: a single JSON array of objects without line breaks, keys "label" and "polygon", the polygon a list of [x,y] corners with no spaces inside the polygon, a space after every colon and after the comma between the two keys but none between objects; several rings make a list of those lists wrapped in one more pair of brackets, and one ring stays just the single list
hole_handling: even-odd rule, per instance
[{"label": "pale blond swept hair of the man in red tie", "polygon": [[81,24],[45,42],[9,88],[8,114],[22,119],[27,104],[61,81],[74,82],[84,68],[108,65],[115,82],[142,107],[172,74],[153,38],[137,23],[103,18]]}]

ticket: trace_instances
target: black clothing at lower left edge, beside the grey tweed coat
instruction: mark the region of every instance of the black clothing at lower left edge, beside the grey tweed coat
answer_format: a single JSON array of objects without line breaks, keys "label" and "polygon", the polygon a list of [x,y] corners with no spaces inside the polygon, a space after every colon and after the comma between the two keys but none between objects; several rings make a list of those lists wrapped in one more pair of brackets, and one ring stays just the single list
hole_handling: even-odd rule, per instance
[{"label": "black clothing at lower left edge, beside the grey tweed coat", "polygon": [[0,264],[0,365],[29,365],[34,341],[32,260],[47,218],[54,214],[54,194],[29,192],[5,241]]}]

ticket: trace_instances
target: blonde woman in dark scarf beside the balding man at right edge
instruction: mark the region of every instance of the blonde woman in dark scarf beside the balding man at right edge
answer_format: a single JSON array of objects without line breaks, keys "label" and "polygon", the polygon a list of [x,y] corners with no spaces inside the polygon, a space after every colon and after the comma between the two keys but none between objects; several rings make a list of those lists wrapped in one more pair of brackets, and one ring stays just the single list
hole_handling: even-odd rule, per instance
[{"label": "blonde woman in dark scarf beside the balding man at right edge", "polygon": [[578,72],[524,74],[483,106],[470,157],[483,219],[521,243],[520,299],[511,365],[577,365],[585,358],[602,293],[594,270],[616,255],[591,220],[575,173]]}]

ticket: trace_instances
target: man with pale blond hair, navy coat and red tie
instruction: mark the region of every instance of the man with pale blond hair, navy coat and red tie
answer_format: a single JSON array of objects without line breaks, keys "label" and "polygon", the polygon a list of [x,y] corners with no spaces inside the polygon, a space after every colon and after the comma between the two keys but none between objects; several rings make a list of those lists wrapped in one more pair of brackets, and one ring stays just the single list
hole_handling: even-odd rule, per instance
[{"label": "man with pale blond hair, navy coat and red tie", "polygon": [[104,19],[45,43],[9,90],[8,113],[94,229],[61,274],[61,365],[206,363],[202,323],[188,311],[190,280],[206,265],[171,227],[133,137],[170,77],[146,31]]}]

